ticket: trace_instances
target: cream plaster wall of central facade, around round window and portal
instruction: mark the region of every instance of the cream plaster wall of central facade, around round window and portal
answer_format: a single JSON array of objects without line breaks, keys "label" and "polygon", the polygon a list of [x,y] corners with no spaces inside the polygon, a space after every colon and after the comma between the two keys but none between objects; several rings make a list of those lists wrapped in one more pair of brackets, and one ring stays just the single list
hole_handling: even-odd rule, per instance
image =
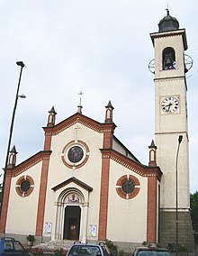
[{"label": "cream plaster wall of central facade, around round window and portal", "polygon": [[[76,126],[79,129],[76,129]],[[85,142],[90,151],[87,162],[80,169],[69,169],[61,160],[61,152],[63,148],[65,145],[67,145],[68,142],[71,142],[72,140],[81,140]],[[99,149],[102,148],[102,145],[103,134],[94,132],[81,123],[76,123],[73,126],[67,128],[67,130],[63,131],[62,133],[58,133],[56,136],[52,137],[52,153],[50,155],[49,162],[49,177],[44,223],[54,222],[56,218],[54,202],[56,202],[58,195],[55,197],[55,192],[51,190],[51,188],[57,186],[68,178],[75,177],[83,181],[88,186],[93,187],[93,191],[90,192],[89,195],[87,226],[89,226],[89,224],[96,224],[98,227],[102,169],[102,157],[101,151]],[[80,187],[78,187],[78,189],[80,189]],[[59,194],[60,192],[61,190],[58,190],[56,194]]]}]

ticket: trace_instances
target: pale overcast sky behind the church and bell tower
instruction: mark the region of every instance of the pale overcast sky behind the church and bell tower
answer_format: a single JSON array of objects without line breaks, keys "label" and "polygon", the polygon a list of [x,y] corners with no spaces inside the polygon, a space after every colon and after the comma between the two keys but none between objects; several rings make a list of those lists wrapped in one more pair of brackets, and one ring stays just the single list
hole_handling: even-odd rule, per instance
[{"label": "pale overcast sky behind the church and bell tower", "polygon": [[[185,53],[193,58],[186,74],[192,193],[198,190],[197,6],[196,0],[168,2],[170,15],[186,30]],[[17,60],[27,67],[20,88],[27,98],[19,98],[14,121],[17,164],[43,150],[42,127],[51,106],[61,122],[76,113],[83,91],[83,114],[98,122],[112,101],[115,136],[147,165],[155,133],[149,33],[158,32],[166,7],[162,0],[1,0],[1,167],[20,73]]]}]

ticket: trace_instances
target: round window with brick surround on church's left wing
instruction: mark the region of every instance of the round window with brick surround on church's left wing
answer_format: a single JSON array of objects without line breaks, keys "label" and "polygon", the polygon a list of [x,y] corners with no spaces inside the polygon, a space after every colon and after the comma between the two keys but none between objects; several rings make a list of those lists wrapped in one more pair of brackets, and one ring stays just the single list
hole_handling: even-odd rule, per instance
[{"label": "round window with brick surround on church's left wing", "polygon": [[33,179],[28,176],[22,176],[16,182],[15,189],[16,193],[21,197],[27,197],[31,194],[34,188]]}]

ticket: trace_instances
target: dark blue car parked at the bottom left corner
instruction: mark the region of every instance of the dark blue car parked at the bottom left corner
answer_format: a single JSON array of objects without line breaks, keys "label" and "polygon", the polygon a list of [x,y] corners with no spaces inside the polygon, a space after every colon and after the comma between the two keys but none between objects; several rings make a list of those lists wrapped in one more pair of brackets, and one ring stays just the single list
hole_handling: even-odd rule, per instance
[{"label": "dark blue car parked at the bottom left corner", "polygon": [[4,255],[30,256],[32,254],[25,251],[22,243],[15,240],[14,238],[2,237],[0,239],[0,256],[4,256]]}]

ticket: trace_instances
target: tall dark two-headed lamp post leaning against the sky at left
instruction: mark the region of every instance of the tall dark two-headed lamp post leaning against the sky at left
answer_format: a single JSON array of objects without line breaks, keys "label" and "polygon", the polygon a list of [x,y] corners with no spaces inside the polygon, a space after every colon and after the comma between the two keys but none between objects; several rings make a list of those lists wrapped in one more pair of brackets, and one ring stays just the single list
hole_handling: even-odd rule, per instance
[{"label": "tall dark two-headed lamp post leaning against the sky at left", "polygon": [[8,139],[8,144],[7,144],[7,152],[6,152],[5,162],[4,162],[4,178],[3,178],[3,184],[2,184],[1,214],[2,214],[2,204],[3,204],[3,200],[4,200],[5,172],[6,172],[6,169],[7,169],[7,163],[8,163],[9,152],[10,152],[10,145],[11,145],[12,136],[13,136],[14,117],[15,117],[15,112],[16,112],[16,106],[17,106],[17,102],[18,102],[19,97],[22,97],[22,98],[26,97],[24,95],[19,95],[19,87],[20,87],[20,84],[21,84],[22,71],[23,71],[23,68],[25,67],[25,65],[24,65],[23,61],[17,61],[16,64],[21,67],[21,70],[20,70],[19,81],[18,81],[18,86],[17,86],[17,90],[16,90],[16,96],[15,96],[15,101],[14,101],[14,110],[13,110],[13,115],[12,115],[12,120],[11,120],[11,125],[10,125],[9,139]]}]

